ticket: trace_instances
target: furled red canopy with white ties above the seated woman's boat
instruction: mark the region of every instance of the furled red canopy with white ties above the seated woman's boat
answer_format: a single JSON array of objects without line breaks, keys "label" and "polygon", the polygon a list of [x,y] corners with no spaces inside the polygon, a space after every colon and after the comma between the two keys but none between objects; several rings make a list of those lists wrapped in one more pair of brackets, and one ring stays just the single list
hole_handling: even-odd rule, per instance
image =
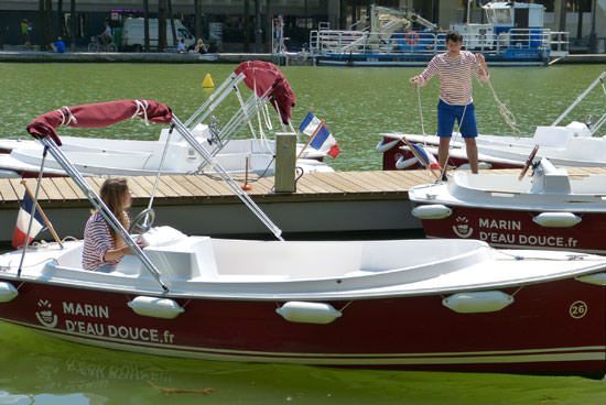
[{"label": "furled red canopy with white ties above the seated woman's boat", "polygon": [[94,105],[62,107],[42,114],[28,125],[28,132],[37,139],[51,136],[61,146],[56,129],[61,125],[104,128],[134,117],[155,123],[171,122],[171,109],[155,100],[120,100]]}]

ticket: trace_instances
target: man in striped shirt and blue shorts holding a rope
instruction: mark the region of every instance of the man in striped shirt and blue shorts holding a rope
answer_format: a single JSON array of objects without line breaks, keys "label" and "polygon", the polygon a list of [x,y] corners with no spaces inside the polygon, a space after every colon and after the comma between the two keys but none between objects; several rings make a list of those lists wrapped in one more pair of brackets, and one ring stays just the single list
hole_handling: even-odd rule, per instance
[{"label": "man in striped shirt and blue shorts holding a rope", "polygon": [[488,67],[484,55],[461,51],[463,36],[456,31],[446,34],[448,52],[435,55],[422,74],[410,79],[415,86],[424,86],[435,75],[440,77],[440,101],[437,103],[437,135],[440,136],[439,163],[443,167],[445,178],[448,160],[448,146],[455,119],[465,140],[467,160],[472,173],[478,173],[478,152],[476,136],[478,134],[474,100],[472,98],[472,76],[480,81],[488,81]]}]

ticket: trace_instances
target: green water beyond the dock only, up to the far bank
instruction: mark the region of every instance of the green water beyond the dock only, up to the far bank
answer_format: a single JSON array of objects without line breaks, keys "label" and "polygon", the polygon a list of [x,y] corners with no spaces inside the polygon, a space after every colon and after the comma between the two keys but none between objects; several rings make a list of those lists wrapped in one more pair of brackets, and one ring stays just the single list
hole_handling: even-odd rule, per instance
[{"label": "green water beyond the dock only, up to the far bank", "polygon": [[[583,91],[605,66],[494,68],[491,83],[500,101],[515,114],[522,133],[553,120]],[[221,83],[234,65],[142,64],[0,64],[0,136],[28,136],[24,128],[36,116],[62,106],[125,98],[152,98],[188,118],[206,99],[202,79],[209,73]],[[307,111],[325,119],[342,149],[331,162],[338,171],[377,169],[375,153],[380,132],[422,133],[418,94],[408,79],[420,68],[284,67],[297,98],[293,122]],[[435,131],[437,80],[422,89],[421,110],[426,133]],[[489,87],[475,85],[480,133],[512,134],[498,112]],[[584,121],[604,111],[606,96],[594,90],[573,112]],[[235,99],[231,100],[236,107]],[[221,118],[234,109],[221,109]],[[566,121],[567,122],[567,121]],[[159,129],[139,121],[105,130],[65,129],[69,135],[152,140]],[[606,134],[606,125],[600,135]]]}]

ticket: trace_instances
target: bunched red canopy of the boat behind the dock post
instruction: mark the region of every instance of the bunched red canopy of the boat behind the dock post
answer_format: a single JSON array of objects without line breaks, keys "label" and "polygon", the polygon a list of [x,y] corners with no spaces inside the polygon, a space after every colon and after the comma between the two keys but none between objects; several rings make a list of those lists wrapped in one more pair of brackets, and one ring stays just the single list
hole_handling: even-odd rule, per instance
[{"label": "bunched red canopy of the boat behind the dock post", "polygon": [[262,96],[270,89],[269,100],[271,105],[280,113],[282,122],[290,122],[296,97],[278,66],[270,62],[247,61],[239,64],[235,72],[236,74],[244,73],[245,84],[248,88],[255,90],[257,96]]}]

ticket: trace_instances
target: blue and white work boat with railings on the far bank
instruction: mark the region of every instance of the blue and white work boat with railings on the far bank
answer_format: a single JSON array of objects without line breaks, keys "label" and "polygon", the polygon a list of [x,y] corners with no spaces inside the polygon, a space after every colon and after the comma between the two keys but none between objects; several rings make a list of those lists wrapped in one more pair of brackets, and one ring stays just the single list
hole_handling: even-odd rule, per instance
[{"label": "blue and white work boat with railings on the far bank", "polygon": [[569,33],[544,28],[543,4],[490,1],[481,9],[483,23],[469,23],[468,14],[465,24],[440,28],[410,8],[371,4],[369,15],[349,30],[321,23],[310,33],[311,55],[326,66],[422,66],[446,52],[447,29],[458,31],[465,48],[483,53],[490,65],[541,66],[569,54]]}]

